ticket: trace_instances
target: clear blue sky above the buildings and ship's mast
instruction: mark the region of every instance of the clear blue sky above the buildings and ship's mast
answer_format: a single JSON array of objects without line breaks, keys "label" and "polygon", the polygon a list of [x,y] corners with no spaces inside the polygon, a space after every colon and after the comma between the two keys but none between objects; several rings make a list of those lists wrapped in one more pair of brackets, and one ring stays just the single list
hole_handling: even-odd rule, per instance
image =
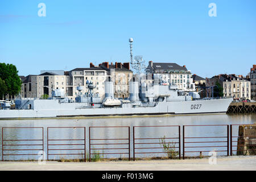
[{"label": "clear blue sky above the buildings and ship's mast", "polygon": [[[38,4],[46,16],[38,16]],[[216,3],[217,17],[210,17]],[[0,1],[0,62],[19,75],[130,59],[186,65],[192,73],[247,75],[256,64],[256,1]]]}]

